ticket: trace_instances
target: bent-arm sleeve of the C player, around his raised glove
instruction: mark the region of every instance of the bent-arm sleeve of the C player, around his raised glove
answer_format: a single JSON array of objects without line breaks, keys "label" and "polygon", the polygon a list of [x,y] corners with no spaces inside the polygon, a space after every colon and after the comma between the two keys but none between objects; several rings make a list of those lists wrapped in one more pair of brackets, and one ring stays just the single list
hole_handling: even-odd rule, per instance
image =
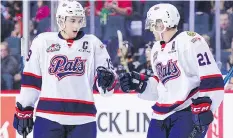
[{"label": "bent-arm sleeve of the C player, around his raised glove", "polygon": [[[103,66],[105,68],[107,68],[108,70],[112,71],[114,74],[115,74],[115,81],[113,83],[113,85],[111,86],[110,89],[107,89],[106,92],[104,92],[104,90],[99,87],[98,85],[98,81],[95,81],[96,82],[96,86],[98,88],[98,91],[101,95],[103,96],[110,96],[113,94],[114,92],[114,87],[116,85],[116,72],[114,71],[114,67],[113,67],[113,64],[112,64],[112,61],[110,59],[110,56],[108,54],[108,51],[106,49],[106,47],[104,46],[104,44],[97,38],[94,36],[94,45],[95,45],[95,70],[100,67],[100,66]],[[95,72],[95,76],[96,76],[96,72]]]}]

